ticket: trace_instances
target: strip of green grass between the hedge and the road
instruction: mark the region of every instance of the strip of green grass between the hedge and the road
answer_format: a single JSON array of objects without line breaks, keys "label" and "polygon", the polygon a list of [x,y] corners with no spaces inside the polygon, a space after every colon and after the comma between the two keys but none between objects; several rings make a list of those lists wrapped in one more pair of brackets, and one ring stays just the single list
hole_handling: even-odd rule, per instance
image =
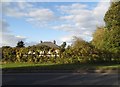
[{"label": "strip of green grass between the hedge and the road", "polygon": [[75,70],[75,69],[120,69],[120,64],[34,64],[34,63],[7,63],[2,69],[42,69],[42,70]]}]

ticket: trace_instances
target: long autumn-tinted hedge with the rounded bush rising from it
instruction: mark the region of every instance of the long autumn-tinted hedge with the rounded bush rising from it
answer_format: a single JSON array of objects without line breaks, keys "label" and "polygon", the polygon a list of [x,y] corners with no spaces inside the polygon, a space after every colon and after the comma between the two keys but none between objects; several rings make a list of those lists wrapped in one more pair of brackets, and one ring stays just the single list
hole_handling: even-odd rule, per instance
[{"label": "long autumn-tinted hedge with the rounded bush rising from it", "polygon": [[[54,53],[54,49],[47,46],[29,46],[24,48],[4,48],[2,49],[3,61],[6,62],[27,62],[27,63],[95,63],[95,62],[111,62],[120,61],[118,56],[95,48],[90,43],[76,38],[71,46],[65,48],[61,56],[47,56],[47,52]],[[45,51],[43,56],[40,56],[40,51]],[[30,52],[30,54],[29,54]],[[119,54],[117,54],[119,55]],[[113,59],[112,59],[112,57]],[[115,59],[116,58],[116,59]]]}]

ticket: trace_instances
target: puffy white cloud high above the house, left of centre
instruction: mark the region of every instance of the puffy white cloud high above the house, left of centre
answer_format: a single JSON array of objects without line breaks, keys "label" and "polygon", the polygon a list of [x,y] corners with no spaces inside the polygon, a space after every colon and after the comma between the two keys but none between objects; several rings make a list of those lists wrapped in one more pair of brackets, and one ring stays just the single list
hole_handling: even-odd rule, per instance
[{"label": "puffy white cloud high above the house, left of centre", "polygon": [[50,9],[32,9],[28,12],[27,17],[29,22],[48,22],[55,18]]}]

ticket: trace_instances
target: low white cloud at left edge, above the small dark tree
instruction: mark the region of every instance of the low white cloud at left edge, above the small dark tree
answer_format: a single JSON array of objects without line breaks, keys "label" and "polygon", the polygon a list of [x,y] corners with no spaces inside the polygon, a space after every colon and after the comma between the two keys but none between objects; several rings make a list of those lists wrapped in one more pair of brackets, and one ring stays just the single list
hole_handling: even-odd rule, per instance
[{"label": "low white cloud at left edge, above the small dark tree", "polygon": [[[2,25],[2,26],[1,26]],[[0,21],[0,47],[1,46],[16,46],[18,41],[25,41],[26,37],[15,36],[9,31],[9,24],[5,20]]]}]

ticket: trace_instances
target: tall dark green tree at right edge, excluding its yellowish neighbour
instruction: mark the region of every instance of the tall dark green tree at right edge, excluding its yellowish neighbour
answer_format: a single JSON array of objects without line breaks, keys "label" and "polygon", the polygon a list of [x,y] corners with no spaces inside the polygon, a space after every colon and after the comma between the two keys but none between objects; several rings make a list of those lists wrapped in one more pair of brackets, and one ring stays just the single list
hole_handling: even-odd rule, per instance
[{"label": "tall dark green tree at right edge, excluding its yellowish neighbour", "polygon": [[120,1],[111,2],[104,21],[108,30],[105,36],[106,48],[111,52],[120,52]]}]

